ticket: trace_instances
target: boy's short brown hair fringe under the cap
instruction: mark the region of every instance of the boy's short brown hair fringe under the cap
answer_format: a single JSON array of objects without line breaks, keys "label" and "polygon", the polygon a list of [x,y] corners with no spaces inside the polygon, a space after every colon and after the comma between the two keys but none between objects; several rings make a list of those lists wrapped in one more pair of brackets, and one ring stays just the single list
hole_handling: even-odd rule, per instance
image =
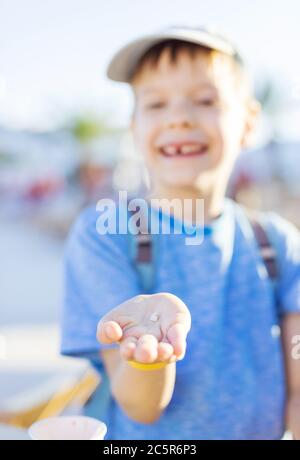
[{"label": "boy's short brown hair fringe under the cap", "polygon": [[169,52],[169,57],[172,64],[176,64],[178,56],[182,52],[187,52],[191,58],[194,58],[197,53],[202,52],[208,57],[208,62],[213,62],[216,56],[224,56],[224,59],[226,59],[232,65],[232,72],[237,78],[237,84],[241,85],[243,92],[245,92],[248,98],[250,97],[252,91],[249,78],[244,65],[239,59],[236,59],[234,56],[225,55],[221,51],[216,51],[196,43],[178,39],[161,41],[147,50],[140,58],[137,65],[133,69],[133,72],[131,73],[131,85],[134,85],[134,82],[146,66],[149,66],[151,69],[155,70],[158,66],[162,54],[165,51]]}]

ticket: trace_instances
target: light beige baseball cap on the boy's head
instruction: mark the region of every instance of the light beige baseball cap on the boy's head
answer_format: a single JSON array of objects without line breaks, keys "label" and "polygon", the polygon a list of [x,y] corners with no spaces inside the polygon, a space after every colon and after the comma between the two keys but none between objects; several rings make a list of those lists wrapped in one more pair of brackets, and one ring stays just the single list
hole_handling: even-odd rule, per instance
[{"label": "light beige baseball cap on the boy's head", "polygon": [[232,56],[243,65],[243,60],[231,41],[208,27],[172,26],[165,30],[137,38],[123,46],[111,59],[107,76],[111,80],[130,83],[131,76],[141,57],[153,46],[166,40],[195,43]]}]

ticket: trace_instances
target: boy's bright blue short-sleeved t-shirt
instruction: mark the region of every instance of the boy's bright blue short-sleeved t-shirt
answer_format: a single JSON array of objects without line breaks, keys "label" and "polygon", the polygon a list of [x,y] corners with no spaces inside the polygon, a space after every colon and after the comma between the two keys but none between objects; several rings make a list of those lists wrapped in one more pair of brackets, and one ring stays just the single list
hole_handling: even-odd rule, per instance
[{"label": "boy's bright blue short-sleeved t-shirt", "polygon": [[[128,235],[100,236],[98,217],[95,209],[85,210],[66,245],[63,354],[107,348],[96,340],[99,319],[142,293]],[[282,315],[300,313],[300,236],[276,214],[264,219],[278,252],[277,302],[252,228],[234,202],[225,200],[200,245],[186,245],[184,234],[156,236],[153,293],[170,292],[188,306],[186,356],[177,363],[172,400],[155,423],[132,421],[110,399],[107,439],[282,436],[286,392],[279,325]]]}]

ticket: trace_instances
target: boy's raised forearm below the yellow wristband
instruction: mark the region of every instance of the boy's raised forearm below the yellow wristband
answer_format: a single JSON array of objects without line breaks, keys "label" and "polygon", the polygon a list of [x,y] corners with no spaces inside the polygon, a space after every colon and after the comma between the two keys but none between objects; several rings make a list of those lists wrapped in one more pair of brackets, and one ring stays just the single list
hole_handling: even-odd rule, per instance
[{"label": "boy's raised forearm below the yellow wristband", "polygon": [[175,363],[162,369],[143,371],[133,368],[120,354],[115,353],[114,358],[109,359],[107,371],[114,398],[135,421],[153,423],[172,398]]}]

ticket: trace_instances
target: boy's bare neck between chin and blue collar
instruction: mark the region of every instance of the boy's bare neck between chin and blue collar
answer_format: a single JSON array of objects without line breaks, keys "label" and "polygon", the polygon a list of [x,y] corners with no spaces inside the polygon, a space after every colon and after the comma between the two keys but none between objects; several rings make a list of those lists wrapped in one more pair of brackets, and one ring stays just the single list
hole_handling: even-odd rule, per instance
[{"label": "boy's bare neck between chin and blue collar", "polygon": [[[196,187],[156,187],[151,190],[147,196],[147,200],[150,201],[152,199],[157,200],[168,200],[171,201],[173,199],[177,199],[180,201],[181,205],[176,208],[176,205],[172,207],[172,213],[174,217],[181,218],[182,217],[182,209],[183,209],[183,200],[189,199],[191,200],[191,209],[192,212],[188,212],[188,209],[185,208],[184,216],[188,222],[193,224],[209,224],[213,220],[217,219],[223,211],[223,204],[224,204],[224,192],[214,190],[213,193],[203,193],[203,191],[199,190]],[[201,216],[201,220],[204,217],[204,222],[198,222],[197,216],[195,212],[197,200],[204,200],[204,216]],[[160,203],[162,211],[164,210],[163,202]],[[166,207],[166,211],[169,211],[169,207]]]}]

